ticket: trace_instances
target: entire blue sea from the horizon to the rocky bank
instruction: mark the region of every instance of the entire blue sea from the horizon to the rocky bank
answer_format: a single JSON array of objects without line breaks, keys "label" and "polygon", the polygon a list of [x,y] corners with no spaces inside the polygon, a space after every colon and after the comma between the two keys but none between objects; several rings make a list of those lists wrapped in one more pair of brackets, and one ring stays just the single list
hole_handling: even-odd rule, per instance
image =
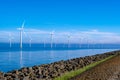
[{"label": "entire blue sea from the horizon to the rocky bank", "polygon": [[9,72],[22,67],[49,64],[56,61],[68,60],[120,49],[120,44],[53,44],[34,43],[31,46],[19,43],[9,45],[0,43],[0,71]]}]

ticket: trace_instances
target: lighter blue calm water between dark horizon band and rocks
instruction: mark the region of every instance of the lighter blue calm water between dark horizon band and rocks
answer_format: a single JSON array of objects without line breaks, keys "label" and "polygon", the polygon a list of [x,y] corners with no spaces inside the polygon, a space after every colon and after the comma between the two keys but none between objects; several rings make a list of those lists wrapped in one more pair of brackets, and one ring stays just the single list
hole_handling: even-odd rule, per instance
[{"label": "lighter blue calm water between dark horizon band and rocks", "polygon": [[11,71],[22,67],[52,63],[77,57],[89,56],[115,49],[80,49],[80,50],[41,50],[0,52],[0,71]]}]

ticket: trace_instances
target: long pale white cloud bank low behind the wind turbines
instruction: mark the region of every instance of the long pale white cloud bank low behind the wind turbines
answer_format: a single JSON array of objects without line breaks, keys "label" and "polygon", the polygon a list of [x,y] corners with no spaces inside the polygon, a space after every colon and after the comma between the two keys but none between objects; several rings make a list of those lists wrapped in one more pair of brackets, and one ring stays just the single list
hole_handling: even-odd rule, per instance
[{"label": "long pale white cloud bank low behind the wind turbines", "polygon": [[[28,42],[32,38],[32,42],[50,42],[50,32],[39,29],[24,29],[27,36],[23,34],[23,41]],[[19,42],[19,31],[0,31],[0,41],[9,40],[9,33],[14,37],[13,42]],[[120,34],[112,32],[102,32],[99,30],[91,31],[55,31],[54,42],[68,42],[68,35],[70,35],[70,42],[72,43],[120,43]],[[5,37],[5,38],[4,38]]]}]

